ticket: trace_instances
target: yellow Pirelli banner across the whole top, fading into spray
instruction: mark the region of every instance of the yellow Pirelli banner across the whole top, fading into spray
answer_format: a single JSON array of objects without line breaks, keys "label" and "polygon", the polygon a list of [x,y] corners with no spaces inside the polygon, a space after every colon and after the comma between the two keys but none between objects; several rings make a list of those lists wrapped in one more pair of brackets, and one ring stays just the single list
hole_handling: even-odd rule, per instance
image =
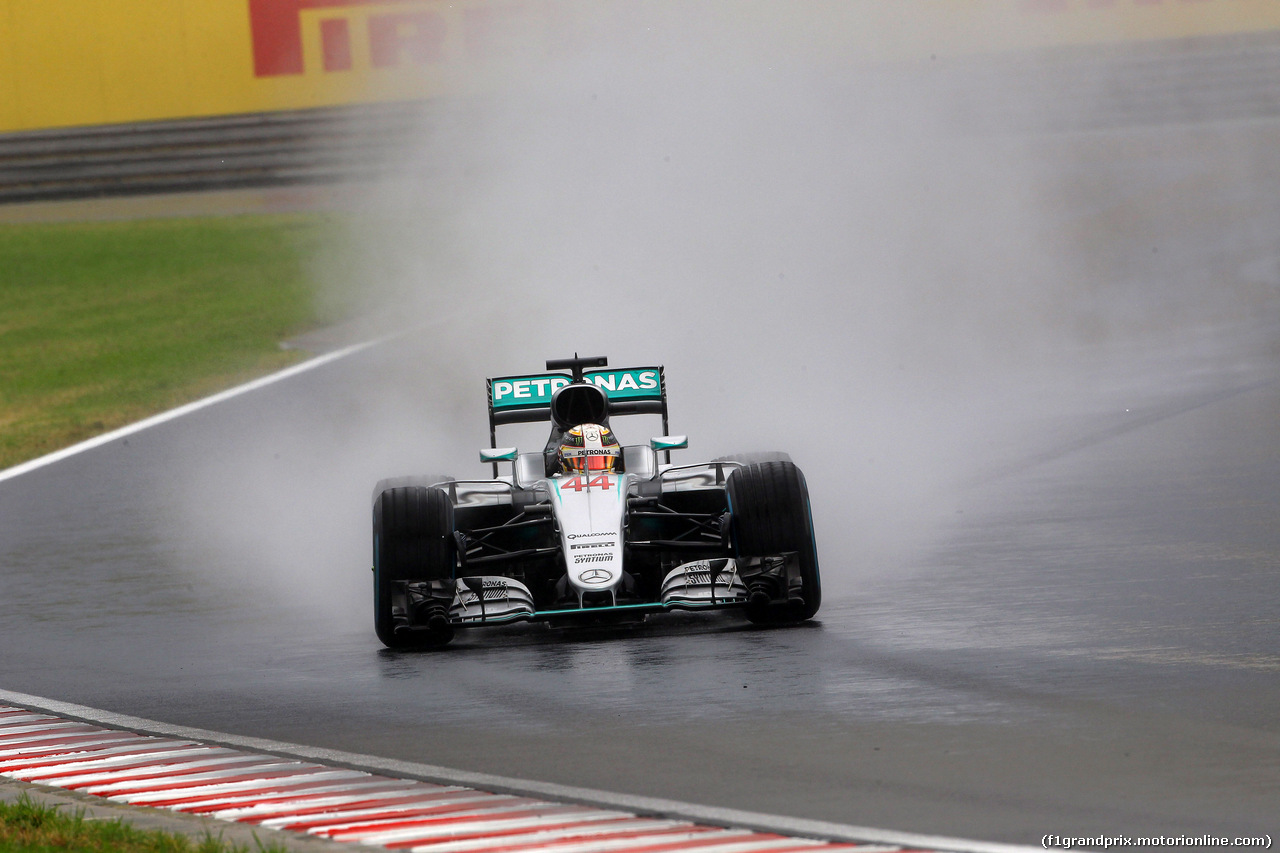
[{"label": "yellow Pirelli banner across the whole top, fading into spray", "polygon": [[[680,22],[698,8],[703,0],[0,0],[0,132],[492,91],[548,55],[644,27],[645,15],[672,9]],[[718,18],[687,17],[765,49],[874,63],[1280,29],[1280,0],[726,0]]]}]

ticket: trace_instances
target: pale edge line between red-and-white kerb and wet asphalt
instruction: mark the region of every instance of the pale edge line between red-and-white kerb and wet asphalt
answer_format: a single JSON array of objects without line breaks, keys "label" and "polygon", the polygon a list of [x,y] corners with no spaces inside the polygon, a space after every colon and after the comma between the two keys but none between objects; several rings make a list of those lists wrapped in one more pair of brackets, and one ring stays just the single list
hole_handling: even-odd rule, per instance
[{"label": "pale edge line between red-and-white kerb and wet asphalt", "polygon": [[792,835],[815,836],[842,841],[873,841],[881,844],[897,844],[901,847],[938,848],[943,850],[955,850],[956,853],[1029,853],[1030,850],[1041,849],[1038,847],[1023,844],[979,841],[973,839],[947,838],[942,835],[924,835],[919,833],[884,830],[872,826],[854,826],[849,824],[836,824],[803,817],[787,817],[783,815],[748,812],[736,808],[699,806],[695,803],[682,803],[673,799],[660,799],[655,797],[640,797],[634,794],[594,790],[590,788],[575,788],[572,785],[516,779],[512,776],[477,774],[466,770],[440,767],[436,765],[422,765],[410,761],[399,761],[396,758],[383,758],[380,756],[365,756],[339,749],[323,749],[319,747],[270,740],[266,738],[248,738],[221,731],[210,731],[207,729],[177,726],[166,722],[159,722],[156,720],[114,713],[82,704],[47,699],[27,693],[14,693],[10,690],[0,690],[0,701],[31,710],[47,711],[49,713],[84,720],[86,722],[93,722],[102,726],[127,729],[140,734],[201,740],[205,743],[216,743],[219,745],[237,747],[241,749],[269,752],[292,758],[326,761],[356,770],[381,774],[401,774],[410,779],[420,779],[424,781],[465,785],[495,793],[520,793],[526,795],[535,794],[538,797],[579,802],[603,808],[625,808],[632,812],[649,812],[662,815],[664,817],[685,817],[724,826],[744,826],[749,829],[762,829],[774,833],[788,833]]}]

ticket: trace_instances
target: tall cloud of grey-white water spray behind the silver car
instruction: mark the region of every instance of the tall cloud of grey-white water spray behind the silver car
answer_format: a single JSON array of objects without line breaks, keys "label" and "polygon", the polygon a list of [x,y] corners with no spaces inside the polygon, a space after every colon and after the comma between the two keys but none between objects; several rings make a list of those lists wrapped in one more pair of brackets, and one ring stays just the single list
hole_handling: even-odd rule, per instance
[{"label": "tall cloud of grey-white water spray behind the silver car", "polygon": [[[483,475],[483,379],[580,352],[664,364],[689,461],[791,452],[838,594],[924,553],[961,483],[1220,369],[1238,353],[1203,329],[1274,313],[1267,133],[1011,131],[1037,117],[1019,81],[819,49],[845,6],[782,29],[768,4],[579,9],[433,109],[321,270],[416,330],[342,424],[278,438],[298,461],[261,493],[297,501],[268,573],[353,590],[333,555],[367,560],[372,483]],[[1076,81],[1082,109],[1110,82]]]}]

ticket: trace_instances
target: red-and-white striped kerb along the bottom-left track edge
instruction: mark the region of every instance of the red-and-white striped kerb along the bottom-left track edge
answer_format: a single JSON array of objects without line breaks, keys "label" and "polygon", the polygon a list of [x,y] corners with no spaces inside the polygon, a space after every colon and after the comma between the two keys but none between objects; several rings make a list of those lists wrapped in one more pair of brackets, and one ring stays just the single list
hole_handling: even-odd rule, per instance
[{"label": "red-and-white striped kerb along the bottom-left track edge", "polygon": [[428,853],[874,853],[625,811],[375,776],[0,704],[0,776],[118,803]]}]

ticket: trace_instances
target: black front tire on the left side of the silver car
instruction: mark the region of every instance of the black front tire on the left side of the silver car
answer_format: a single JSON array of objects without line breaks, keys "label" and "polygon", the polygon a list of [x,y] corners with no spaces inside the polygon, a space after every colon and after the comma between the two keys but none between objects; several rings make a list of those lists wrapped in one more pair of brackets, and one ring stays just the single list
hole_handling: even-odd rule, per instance
[{"label": "black front tire on the left side of the silver car", "polygon": [[453,639],[452,628],[408,629],[402,583],[451,579],[453,565],[453,503],[443,489],[396,485],[379,492],[374,500],[374,630],[383,646],[444,646]]}]

